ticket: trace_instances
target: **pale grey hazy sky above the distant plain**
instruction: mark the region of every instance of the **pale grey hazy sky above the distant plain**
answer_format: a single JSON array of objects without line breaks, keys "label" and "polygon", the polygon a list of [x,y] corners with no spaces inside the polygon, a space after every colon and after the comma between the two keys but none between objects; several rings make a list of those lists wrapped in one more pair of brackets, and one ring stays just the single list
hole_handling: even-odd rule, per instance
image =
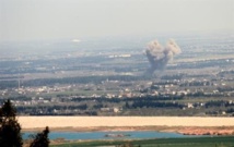
[{"label": "pale grey hazy sky above the distant plain", "polygon": [[0,0],[0,39],[234,29],[234,0]]}]

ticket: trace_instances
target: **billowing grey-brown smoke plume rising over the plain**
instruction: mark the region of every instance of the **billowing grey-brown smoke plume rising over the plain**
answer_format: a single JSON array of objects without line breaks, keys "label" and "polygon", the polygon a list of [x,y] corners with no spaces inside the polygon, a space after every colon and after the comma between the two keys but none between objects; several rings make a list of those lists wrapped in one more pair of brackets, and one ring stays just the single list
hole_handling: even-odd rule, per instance
[{"label": "billowing grey-brown smoke plume rising over the plain", "polygon": [[173,57],[180,52],[180,48],[173,39],[169,39],[165,47],[161,46],[157,40],[149,42],[145,49],[145,54],[151,64],[148,74],[153,74],[155,70],[164,70]]}]

